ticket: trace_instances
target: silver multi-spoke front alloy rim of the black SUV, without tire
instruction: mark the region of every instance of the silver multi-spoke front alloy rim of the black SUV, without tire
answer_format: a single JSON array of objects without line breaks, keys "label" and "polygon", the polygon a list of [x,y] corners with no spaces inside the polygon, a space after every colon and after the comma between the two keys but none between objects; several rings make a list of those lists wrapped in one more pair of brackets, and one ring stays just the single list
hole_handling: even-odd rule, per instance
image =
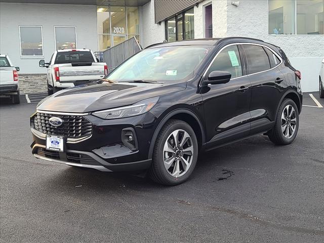
[{"label": "silver multi-spoke front alloy rim of the black SUV, without tire", "polygon": [[190,168],[193,158],[193,143],[184,130],[172,132],[163,149],[163,161],[167,172],[173,177],[183,176]]}]

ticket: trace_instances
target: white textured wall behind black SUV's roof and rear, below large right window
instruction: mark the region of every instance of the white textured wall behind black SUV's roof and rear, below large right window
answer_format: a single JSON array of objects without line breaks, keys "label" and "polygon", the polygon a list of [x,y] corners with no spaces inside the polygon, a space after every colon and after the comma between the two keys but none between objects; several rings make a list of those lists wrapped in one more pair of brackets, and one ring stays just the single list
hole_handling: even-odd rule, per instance
[{"label": "white textured wall behind black SUV's roof and rear, below large right window", "polygon": [[268,1],[240,0],[238,7],[227,1],[227,36],[259,38],[279,46],[292,65],[301,71],[302,90],[318,91],[318,74],[324,58],[324,36],[269,35]]}]

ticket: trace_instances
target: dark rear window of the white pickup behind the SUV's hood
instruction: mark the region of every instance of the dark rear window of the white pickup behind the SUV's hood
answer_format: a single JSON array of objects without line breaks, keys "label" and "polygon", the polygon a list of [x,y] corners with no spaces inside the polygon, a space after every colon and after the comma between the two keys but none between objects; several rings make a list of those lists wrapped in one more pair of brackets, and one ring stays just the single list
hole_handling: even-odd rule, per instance
[{"label": "dark rear window of the white pickup behind the SUV's hood", "polygon": [[94,62],[91,52],[58,52],[54,64],[77,63],[77,62]]}]

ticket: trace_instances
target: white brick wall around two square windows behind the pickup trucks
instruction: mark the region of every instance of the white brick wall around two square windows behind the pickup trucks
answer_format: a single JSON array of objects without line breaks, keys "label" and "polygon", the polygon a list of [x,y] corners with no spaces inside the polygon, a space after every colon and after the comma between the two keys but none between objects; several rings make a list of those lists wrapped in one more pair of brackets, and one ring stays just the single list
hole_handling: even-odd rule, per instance
[{"label": "white brick wall around two square windows behind the pickup trucks", "polygon": [[[19,25],[42,25],[44,58],[21,57]],[[40,59],[55,51],[54,26],[76,26],[77,48],[98,51],[97,9],[93,5],[0,3],[0,53],[8,54],[20,73],[45,73]]]}]

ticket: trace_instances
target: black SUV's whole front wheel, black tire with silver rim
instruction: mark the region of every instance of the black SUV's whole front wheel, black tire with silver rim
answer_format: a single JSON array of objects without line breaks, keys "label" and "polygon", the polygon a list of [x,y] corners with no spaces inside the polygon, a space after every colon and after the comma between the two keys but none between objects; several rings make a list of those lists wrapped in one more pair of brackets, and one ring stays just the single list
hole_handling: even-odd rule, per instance
[{"label": "black SUV's whole front wheel, black tire with silver rim", "polygon": [[192,174],[197,157],[198,143],[193,129],[182,120],[169,120],[156,138],[149,177],[163,185],[181,184]]}]

